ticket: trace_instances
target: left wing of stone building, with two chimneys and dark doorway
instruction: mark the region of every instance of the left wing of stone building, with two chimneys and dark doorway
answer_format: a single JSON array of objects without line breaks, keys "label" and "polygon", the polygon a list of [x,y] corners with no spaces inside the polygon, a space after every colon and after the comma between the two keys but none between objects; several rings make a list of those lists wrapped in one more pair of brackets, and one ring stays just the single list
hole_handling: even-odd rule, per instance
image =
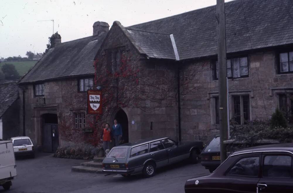
[{"label": "left wing of stone building, with two chimneys and dark doorway", "polygon": [[52,48],[19,81],[25,112],[21,129],[43,151],[84,142],[90,135],[86,125],[93,116],[86,114],[86,91],[93,88],[93,58],[108,30],[108,23],[96,22],[93,36],[63,43],[55,33]]}]

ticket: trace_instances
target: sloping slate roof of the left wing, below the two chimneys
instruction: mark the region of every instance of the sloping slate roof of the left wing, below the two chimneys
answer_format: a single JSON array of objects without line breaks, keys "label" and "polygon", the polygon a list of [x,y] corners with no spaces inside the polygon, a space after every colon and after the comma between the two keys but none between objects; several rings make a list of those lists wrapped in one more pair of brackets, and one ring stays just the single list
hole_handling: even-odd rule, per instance
[{"label": "sloping slate roof of the left wing, below the two chimneys", "polygon": [[19,83],[94,74],[93,59],[106,33],[63,42],[44,54]]}]

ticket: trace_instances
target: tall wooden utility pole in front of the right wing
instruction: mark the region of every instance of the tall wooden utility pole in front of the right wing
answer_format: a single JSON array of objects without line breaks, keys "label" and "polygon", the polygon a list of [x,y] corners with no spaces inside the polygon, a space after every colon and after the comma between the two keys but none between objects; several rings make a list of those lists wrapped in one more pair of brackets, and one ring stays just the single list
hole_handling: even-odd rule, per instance
[{"label": "tall wooden utility pole in front of the right wing", "polygon": [[226,146],[223,141],[228,139],[227,122],[227,68],[226,68],[226,37],[225,37],[225,5],[224,0],[217,0],[218,21],[218,69],[219,69],[219,100],[220,100],[220,155],[221,163],[226,159]]}]

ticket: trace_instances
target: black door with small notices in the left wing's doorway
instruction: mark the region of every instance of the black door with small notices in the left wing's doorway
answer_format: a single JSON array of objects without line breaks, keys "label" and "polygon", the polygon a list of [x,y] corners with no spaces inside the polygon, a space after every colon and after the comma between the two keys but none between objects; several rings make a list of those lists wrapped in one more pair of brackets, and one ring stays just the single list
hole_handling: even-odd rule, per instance
[{"label": "black door with small notices in the left wing's doorway", "polygon": [[55,152],[59,145],[58,125],[44,124],[42,139],[43,151]]}]

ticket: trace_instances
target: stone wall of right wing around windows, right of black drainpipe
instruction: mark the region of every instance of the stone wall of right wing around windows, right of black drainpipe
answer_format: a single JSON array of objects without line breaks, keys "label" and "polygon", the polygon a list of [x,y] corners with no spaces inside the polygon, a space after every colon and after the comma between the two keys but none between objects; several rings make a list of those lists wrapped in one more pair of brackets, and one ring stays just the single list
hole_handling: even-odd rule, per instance
[{"label": "stone wall of right wing around windows, right of black drainpipe", "polygon": [[[218,96],[213,80],[213,60],[189,62],[180,71],[183,140],[207,141],[219,134],[213,122],[212,97]],[[278,74],[275,51],[248,54],[249,77],[229,79],[230,118],[232,96],[250,96],[250,119],[270,119],[278,106],[278,93],[293,91],[293,74]],[[291,89],[291,90],[290,90]]]}]

